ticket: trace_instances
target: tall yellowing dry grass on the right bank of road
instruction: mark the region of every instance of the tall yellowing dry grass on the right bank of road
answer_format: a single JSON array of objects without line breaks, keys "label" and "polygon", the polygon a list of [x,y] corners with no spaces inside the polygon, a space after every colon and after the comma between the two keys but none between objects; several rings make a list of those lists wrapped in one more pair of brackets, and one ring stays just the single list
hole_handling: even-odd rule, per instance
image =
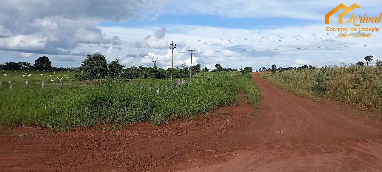
[{"label": "tall yellowing dry grass on the right bank of road", "polygon": [[278,71],[264,78],[305,98],[329,97],[382,111],[381,74],[382,68],[342,65]]}]

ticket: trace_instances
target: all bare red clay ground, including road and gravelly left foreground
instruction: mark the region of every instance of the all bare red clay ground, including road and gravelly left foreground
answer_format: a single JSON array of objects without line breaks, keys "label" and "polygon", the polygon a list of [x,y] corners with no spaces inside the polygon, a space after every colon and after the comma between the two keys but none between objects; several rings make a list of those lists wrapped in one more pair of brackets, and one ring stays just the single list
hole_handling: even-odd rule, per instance
[{"label": "all bare red clay ground, including road and gravelly left foreground", "polygon": [[241,102],[207,118],[159,127],[65,133],[13,128],[28,136],[0,136],[0,171],[382,171],[380,121],[302,99],[256,73],[253,81],[261,92],[256,117]]}]

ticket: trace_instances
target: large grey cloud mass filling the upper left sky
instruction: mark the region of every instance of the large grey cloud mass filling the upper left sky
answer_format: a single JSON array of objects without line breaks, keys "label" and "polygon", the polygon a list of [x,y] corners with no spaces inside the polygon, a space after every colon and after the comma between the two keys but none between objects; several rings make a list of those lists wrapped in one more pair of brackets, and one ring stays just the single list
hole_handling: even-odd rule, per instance
[{"label": "large grey cloud mass filling the upper left sky", "polygon": [[[0,6],[0,50],[71,55],[80,44],[121,45],[118,36],[105,37],[101,21],[145,19],[156,0],[19,0]],[[36,10],[37,9],[37,10]]]}]

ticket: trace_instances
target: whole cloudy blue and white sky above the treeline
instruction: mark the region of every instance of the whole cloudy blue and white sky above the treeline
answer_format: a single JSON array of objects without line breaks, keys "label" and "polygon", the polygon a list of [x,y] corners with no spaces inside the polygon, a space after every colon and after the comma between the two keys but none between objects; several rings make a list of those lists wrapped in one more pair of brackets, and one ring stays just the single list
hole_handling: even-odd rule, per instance
[{"label": "whole cloudy blue and white sky above the treeline", "polygon": [[[338,24],[325,14],[343,3],[355,8]],[[87,54],[122,65],[174,67],[200,63],[224,68],[351,64],[381,58],[382,31],[367,38],[339,38],[326,27],[351,28],[354,15],[379,16],[382,2],[283,0],[0,0],[0,64],[47,56],[55,67],[79,67]],[[382,23],[361,27],[381,28]],[[348,31],[350,32],[350,31]],[[347,32],[346,32],[347,33]],[[367,46],[366,46],[367,45]],[[320,47],[320,48],[318,48]],[[327,47],[327,48],[325,48]]]}]

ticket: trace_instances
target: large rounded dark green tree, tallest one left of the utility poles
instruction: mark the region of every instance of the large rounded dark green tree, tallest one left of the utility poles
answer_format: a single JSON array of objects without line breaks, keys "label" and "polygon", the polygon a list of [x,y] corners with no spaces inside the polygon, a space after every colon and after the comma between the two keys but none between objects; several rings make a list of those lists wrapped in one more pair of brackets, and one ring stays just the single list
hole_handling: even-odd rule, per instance
[{"label": "large rounded dark green tree, tallest one left of the utility poles", "polygon": [[106,58],[101,54],[88,54],[81,63],[81,68],[86,71],[83,74],[86,79],[105,78],[107,70]]}]

